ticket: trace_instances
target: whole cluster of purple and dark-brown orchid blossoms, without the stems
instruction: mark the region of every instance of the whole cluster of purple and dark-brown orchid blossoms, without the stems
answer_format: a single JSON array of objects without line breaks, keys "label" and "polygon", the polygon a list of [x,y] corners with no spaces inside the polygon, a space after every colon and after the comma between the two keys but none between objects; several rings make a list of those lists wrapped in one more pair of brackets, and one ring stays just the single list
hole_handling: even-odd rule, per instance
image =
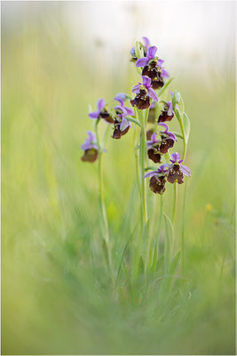
[{"label": "whole cluster of purple and dark-brown orchid blossoms, without the stems", "polygon": [[[181,184],[184,182],[184,175],[190,176],[190,170],[182,164],[183,160],[178,153],[172,154],[169,164],[162,163],[162,156],[166,154],[170,156],[169,150],[178,141],[177,136],[170,132],[168,125],[165,124],[165,122],[170,122],[175,115],[177,116],[178,101],[175,101],[171,92],[170,101],[161,101],[155,93],[163,85],[165,86],[162,91],[166,89],[168,84],[166,85],[165,80],[170,76],[163,68],[164,61],[157,56],[157,47],[150,45],[147,37],[142,37],[142,39],[142,43],[137,43],[130,50],[130,61],[136,63],[136,67],[141,74],[138,85],[135,85],[131,90],[135,94],[134,98],[130,98],[125,93],[117,93],[114,100],[118,102],[118,105],[114,108],[110,108],[104,99],[99,99],[97,110],[89,113],[89,117],[97,120],[95,127],[99,124],[100,119],[103,119],[109,125],[113,125],[113,139],[121,139],[124,134],[127,134],[132,121],[139,124],[137,118],[140,115],[146,117],[149,123],[154,124],[154,128],[146,132],[147,142],[145,141],[143,147],[139,146],[139,150],[144,148],[147,151],[147,158],[155,164],[162,164],[157,170],[145,175],[145,177],[150,177],[150,189],[154,193],[162,194],[166,182]],[[126,101],[129,101],[131,107],[137,110],[137,116],[135,116],[133,109],[125,106]],[[160,108],[162,105],[159,116],[156,115],[156,103],[159,104]],[[173,105],[175,105],[175,108]],[[146,110],[145,116],[139,114],[141,113],[140,110]],[[157,124],[162,126],[159,131],[156,129]],[[82,150],[84,150],[82,160],[94,162],[99,156],[99,142],[97,142],[94,134],[91,132],[88,132],[88,134],[89,138],[82,145]],[[185,140],[184,136],[181,137]],[[183,156],[185,156],[185,150]]]}]

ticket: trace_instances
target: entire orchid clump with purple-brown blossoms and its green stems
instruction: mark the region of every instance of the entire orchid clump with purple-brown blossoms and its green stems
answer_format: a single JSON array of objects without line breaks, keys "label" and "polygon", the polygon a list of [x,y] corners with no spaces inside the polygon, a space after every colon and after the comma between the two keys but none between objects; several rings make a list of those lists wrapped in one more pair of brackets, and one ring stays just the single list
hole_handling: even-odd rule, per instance
[{"label": "entire orchid clump with purple-brown blossoms and its green stems", "polygon": [[[140,201],[140,239],[137,245],[137,260],[143,258],[141,249],[142,241],[146,239],[147,234],[147,206],[146,206],[146,178],[149,178],[149,189],[161,196],[161,214],[162,216],[162,195],[166,190],[168,183],[174,186],[174,202],[172,219],[169,219],[170,226],[174,228],[178,184],[184,183],[185,176],[190,177],[190,169],[183,165],[186,159],[186,148],[190,132],[190,121],[185,112],[184,101],[179,92],[170,92],[170,101],[162,100],[162,94],[165,93],[173,78],[170,78],[169,73],[163,68],[163,60],[156,55],[157,48],[150,45],[147,37],[143,37],[143,43],[136,42],[135,46],[130,50],[130,61],[136,63],[141,80],[138,85],[131,89],[131,93],[135,96],[130,98],[126,93],[117,93],[114,97],[119,105],[110,108],[104,99],[99,99],[97,109],[89,113],[89,117],[94,122],[94,134],[88,132],[88,139],[81,146],[84,151],[83,162],[95,162],[99,160],[99,202],[102,221],[102,235],[104,247],[107,256],[107,263],[110,271],[113,270],[111,242],[109,239],[109,229],[107,223],[107,212],[103,195],[103,176],[101,169],[101,159],[105,151],[105,137],[110,127],[113,127],[111,137],[113,139],[121,139],[123,135],[128,134],[132,124],[139,131],[138,142],[135,142],[135,151],[138,150],[138,172],[137,181],[139,187]],[[125,106],[125,102],[129,101]],[[129,104],[131,107],[129,107]],[[160,114],[158,115],[158,109]],[[170,131],[169,123],[176,117],[181,133]],[[103,119],[107,122],[106,133],[104,134],[103,142],[99,142],[98,125]],[[148,129],[148,123],[152,128]],[[110,126],[111,125],[111,126]],[[162,126],[159,130],[158,126]],[[163,129],[163,130],[162,130]],[[170,150],[175,148],[178,139],[183,142],[183,152],[180,155],[178,152],[173,152],[170,156]],[[158,166],[148,166],[148,159],[152,160]],[[164,162],[165,161],[165,162]],[[151,171],[146,173],[147,171]],[[168,221],[168,220],[167,220]],[[161,224],[159,224],[160,234]],[[156,245],[148,243],[146,252],[145,270],[154,264],[157,258]],[[184,264],[184,244],[182,243],[182,258]],[[155,262],[156,263],[156,262]],[[112,271],[113,273],[113,271]]]}]

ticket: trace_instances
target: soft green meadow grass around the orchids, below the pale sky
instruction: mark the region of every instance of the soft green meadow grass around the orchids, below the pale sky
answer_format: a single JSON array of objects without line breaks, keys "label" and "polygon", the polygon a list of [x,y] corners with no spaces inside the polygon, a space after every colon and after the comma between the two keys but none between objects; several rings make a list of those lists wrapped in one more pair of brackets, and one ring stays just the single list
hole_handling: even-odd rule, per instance
[{"label": "soft green meadow grass around the orchids, below the pale sky", "polygon": [[[17,33],[4,31],[3,23],[2,353],[233,354],[232,78],[219,82],[213,74],[208,85],[195,74],[174,74],[192,125],[186,158],[192,177],[178,187],[171,238],[175,256],[184,233],[185,276],[179,261],[164,278],[169,226],[162,217],[155,271],[132,279],[139,224],[133,131],[108,140],[103,171],[112,284],[102,250],[97,165],[80,160],[80,144],[91,129],[88,103],[129,92],[138,77],[130,63],[122,64],[122,74],[103,67],[102,57],[93,67],[54,20],[54,30],[46,16],[37,24],[28,20]],[[103,49],[93,45],[99,55]],[[163,196],[169,216],[171,188]],[[148,191],[147,200],[156,239],[160,196]]]}]

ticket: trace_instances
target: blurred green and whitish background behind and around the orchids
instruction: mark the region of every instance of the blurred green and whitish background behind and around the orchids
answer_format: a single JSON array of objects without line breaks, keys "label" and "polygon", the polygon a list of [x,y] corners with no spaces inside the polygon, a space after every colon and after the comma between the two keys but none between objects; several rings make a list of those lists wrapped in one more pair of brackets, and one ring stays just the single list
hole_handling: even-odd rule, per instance
[{"label": "blurred green and whitish background behind and around the orchids", "polygon": [[[2,354],[234,353],[234,7],[2,2]],[[110,293],[97,165],[80,160],[89,104],[114,105],[138,82],[129,51],[141,36],[157,45],[192,125],[188,284],[183,294],[175,285],[169,311],[158,314],[156,289],[140,303],[124,273],[120,297]],[[130,130],[108,140],[103,162],[115,270],[138,223],[132,139]],[[149,192],[154,231],[158,199]]]}]

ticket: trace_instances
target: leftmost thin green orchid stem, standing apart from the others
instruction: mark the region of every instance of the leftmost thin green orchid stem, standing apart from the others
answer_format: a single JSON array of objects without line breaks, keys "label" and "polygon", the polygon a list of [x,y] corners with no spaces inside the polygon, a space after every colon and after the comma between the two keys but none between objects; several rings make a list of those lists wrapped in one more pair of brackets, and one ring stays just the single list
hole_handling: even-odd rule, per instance
[{"label": "leftmost thin green orchid stem, standing apart from the others", "polygon": [[109,269],[111,271],[111,250],[109,246],[109,232],[108,232],[108,223],[107,223],[107,211],[106,211],[106,206],[105,206],[105,198],[104,198],[104,187],[103,187],[103,173],[102,173],[102,154],[103,150],[100,147],[99,144],[99,133],[98,133],[98,124],[95,125],[95,131],[96,131],[96,138],[97,138],[97,144],[98,144],[98,149],[99,149],[99,158],[98,158],[98,169],[99,169],[99,207],[100,207],[100,213],[101,213],[101,218],[102,218],[102,234],[103,234],[103,239],[105,241],[105,247],[107,250],[107,262],[109,265]]}]

